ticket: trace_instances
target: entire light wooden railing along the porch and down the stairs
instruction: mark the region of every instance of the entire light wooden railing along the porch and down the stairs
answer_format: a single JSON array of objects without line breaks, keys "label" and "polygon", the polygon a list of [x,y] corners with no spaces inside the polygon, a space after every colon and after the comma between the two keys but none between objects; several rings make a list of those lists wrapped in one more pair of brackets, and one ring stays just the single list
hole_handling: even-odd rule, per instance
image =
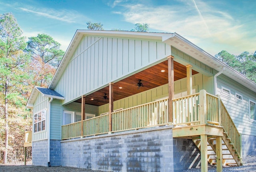
[{"label": "entire light wooden railing along the porch and down the stairs", "polygon": [[[236,130],[232,119],[220,98],[201,90],[200,93],[191,94],[172,100],[173,122],[168,122],[168,98],[142,104],[132,108],[111,113],[111,132],[134,130],[138,128],[173,125],[210,124],[221,126],[232,143],[240,152],[240,134]],[[97,116],[83,121],[83,135],[81,136],[81,122],[62,126],[62,139],[106,134],[109,130],[109,114]]]}]

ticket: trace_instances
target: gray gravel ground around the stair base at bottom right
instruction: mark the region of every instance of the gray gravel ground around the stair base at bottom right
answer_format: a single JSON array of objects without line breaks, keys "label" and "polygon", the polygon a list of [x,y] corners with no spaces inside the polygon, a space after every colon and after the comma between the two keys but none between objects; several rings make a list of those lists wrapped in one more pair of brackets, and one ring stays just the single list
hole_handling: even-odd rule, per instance
[{"label": "gray gravel ground around the stair base at bottom right", "polygon": [[[225,166],[223,172],[256,172],[256,151],[251,152],[242,160],[243,165]],[[183,172],[201,172],[201,168],[191,168]],[[216,172],[216,166],[208,166],[208,172]]]}]

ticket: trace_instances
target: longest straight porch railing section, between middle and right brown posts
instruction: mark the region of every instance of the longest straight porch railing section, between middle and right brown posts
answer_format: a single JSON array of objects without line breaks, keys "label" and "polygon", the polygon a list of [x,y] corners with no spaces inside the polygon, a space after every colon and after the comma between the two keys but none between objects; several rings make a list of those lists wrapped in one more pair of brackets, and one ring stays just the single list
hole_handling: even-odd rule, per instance
[{"label": "longest straight porch railing section, between middle and right brown posts", "polygon": [[112,112],[112,132],[168,123],[168,98]]}]

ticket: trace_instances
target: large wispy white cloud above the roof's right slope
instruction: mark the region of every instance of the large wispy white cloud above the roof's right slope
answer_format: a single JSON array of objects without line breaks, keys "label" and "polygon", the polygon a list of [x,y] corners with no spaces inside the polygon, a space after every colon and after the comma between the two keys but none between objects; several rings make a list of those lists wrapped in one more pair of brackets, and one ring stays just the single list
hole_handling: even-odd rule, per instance
[{"label": "large wispy white cloud above the roof's right slope", "polygon": [[177,32],[197,45],[211,44],[201,48],[212,54],[218,53],[215,51],[219,48],[236,54],[255,51],[255,43],[252,42],[256,36],[249,36],[243,21],[234,20],[231,14],[199,0],[196,4],[194,0],[180,2],[183,3],[165,6],[119,4],[126,9],[119,13],[127,22],[148,23],[150,29]]}]

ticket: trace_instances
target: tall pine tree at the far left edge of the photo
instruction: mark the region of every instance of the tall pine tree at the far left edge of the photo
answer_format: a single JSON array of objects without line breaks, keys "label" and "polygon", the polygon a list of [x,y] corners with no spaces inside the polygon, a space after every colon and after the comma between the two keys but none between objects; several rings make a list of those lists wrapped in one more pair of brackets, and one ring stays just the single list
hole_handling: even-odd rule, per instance
[{"label": "tall pine tree at the far left edge of the photo", "polygon": [[20,90],[28,77],[25,71],[30,59],[24,48],[25,37],[14,16],[11,13],[0,15],[0,149],[4,152],[4,156],[1,152],[4,163],[10,159],[10,150],[17,148],[16,143],[12,144],[12,138],[20,142],[24,133],[24,123],[17,117],[18,111],[22,111],[20,107],[24,107]]}]

